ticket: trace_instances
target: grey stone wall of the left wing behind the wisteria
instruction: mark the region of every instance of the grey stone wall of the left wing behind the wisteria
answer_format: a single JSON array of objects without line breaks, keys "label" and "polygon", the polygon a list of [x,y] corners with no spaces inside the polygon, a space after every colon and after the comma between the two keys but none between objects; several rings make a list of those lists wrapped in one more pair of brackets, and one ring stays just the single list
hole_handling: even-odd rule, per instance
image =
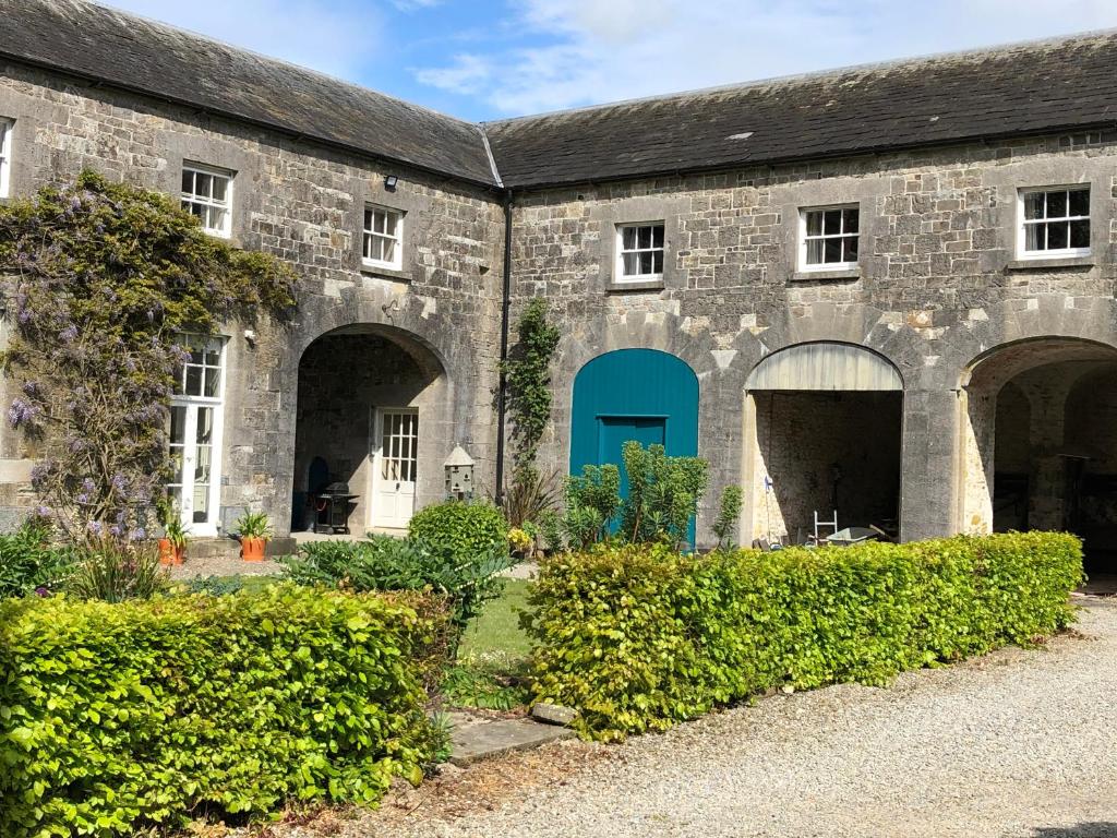
[{"label": "grey stone wall of the left wing behind the wisteria", "polygon": [[[232,170],[233,244],[292,264],[299,310],[290,324],[227,324],[222,506],[290,520],[298,364],[303,351],[337,328],[376,331],[435,359],[436,425],[494,472],[494,390],[499,347],[503,209],[494,196],[407,166],[314,146],[187,108],[22,66],[0,67],[0,115],[16,121],[12,194],[71,178],[83,168],[176,194],[183,161]],[[395,174],[394,191],[384,177]],[[405,211],[401,270],[366,272],[360,261],[365,203]],[[30,503],[22,458],[0,431],[0,506]],[[419,504],[440,498],[441,475],[424,475]]]}]

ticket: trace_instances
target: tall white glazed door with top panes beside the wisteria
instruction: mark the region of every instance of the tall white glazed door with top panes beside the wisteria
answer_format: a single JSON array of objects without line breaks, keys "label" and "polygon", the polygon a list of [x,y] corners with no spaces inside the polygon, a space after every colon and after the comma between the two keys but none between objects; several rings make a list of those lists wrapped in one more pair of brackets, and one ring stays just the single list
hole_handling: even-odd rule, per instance
[{"label": "tall white glazed door with top panes beside the wisteria", "polygon": [[180,345],[185,360],[171,397],[168,447],[172,474],[166,491],[183,526],[194,535],[217,535],[225,342],[221,337],[183,335]]}]

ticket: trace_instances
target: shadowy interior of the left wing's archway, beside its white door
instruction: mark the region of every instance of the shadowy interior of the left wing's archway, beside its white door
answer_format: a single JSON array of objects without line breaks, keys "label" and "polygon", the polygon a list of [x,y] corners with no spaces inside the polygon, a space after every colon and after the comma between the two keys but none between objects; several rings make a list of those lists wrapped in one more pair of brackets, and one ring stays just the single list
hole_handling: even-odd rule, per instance
[{"label": "shadowy interior of the left wing's archway, beside its white door", "polygon": [[345,483],[361,497],[350,513],[363,532],[369,517],[373,409],[405,407],[441,374],[422,346],[381,332],[331,332],[303,353],[298,365],[292,531],[313,524],[312,483]]}]

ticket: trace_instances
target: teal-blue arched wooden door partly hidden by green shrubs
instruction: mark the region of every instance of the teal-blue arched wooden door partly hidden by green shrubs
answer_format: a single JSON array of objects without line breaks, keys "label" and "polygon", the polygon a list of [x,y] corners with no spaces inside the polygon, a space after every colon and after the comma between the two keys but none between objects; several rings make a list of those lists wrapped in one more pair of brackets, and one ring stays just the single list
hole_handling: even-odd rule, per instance
[{"label": "teal-blue arched wooden door partly hidden by green shrubs", "polygon": [[[621,447],[634,439],[659,444],[674,457],[698,455],[698,377],[685,361],[658,350],[618,350],[599,355],[574,379],[571,474],[612,463],[628,475]],[[694,543],[694,525],[690,541]]]}]

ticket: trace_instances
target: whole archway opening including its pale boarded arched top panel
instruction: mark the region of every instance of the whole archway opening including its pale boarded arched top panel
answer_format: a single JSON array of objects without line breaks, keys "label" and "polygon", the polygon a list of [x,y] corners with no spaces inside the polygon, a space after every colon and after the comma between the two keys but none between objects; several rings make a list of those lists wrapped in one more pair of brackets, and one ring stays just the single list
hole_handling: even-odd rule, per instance
[{"label": "whole archway opening including its pale boarded arched top panel", "polygon": [[815,515],[898,536],[904,382],[887,359],[796,344],[763,359],[745,388],[745,543],[802,544]]}]

